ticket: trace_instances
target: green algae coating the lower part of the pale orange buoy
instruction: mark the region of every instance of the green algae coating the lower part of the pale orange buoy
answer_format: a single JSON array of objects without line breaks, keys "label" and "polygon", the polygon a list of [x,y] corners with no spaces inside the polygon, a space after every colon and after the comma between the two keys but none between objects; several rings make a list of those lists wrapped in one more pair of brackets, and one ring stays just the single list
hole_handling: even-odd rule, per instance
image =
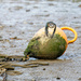
[{"label": "green algae coating the lower part of the pale orange buoy", "polygon": [[36,58],[46,58],[55,59],[59,57],[66,50],[66,41],[60,35],[55,33],[54,37],[50,40],[44,41],[44,44],[41,44],[39,39],[32,39],[27,49],[25,50],[25,56],[29,54],[31,57]]}]

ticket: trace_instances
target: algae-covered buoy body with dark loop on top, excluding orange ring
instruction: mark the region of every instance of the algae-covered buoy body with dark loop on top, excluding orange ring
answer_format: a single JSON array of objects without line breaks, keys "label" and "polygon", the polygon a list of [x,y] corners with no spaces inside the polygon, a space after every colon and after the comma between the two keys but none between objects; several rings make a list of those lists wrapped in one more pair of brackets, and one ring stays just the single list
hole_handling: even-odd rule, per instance
[{"label": "algae-covered buoy body with dark loop on top, excluding orange ring", "polygon": [[65,32],[53,22],[39,29],[24,51],[25,57],[56,59],[65,52],[68,41]]}]

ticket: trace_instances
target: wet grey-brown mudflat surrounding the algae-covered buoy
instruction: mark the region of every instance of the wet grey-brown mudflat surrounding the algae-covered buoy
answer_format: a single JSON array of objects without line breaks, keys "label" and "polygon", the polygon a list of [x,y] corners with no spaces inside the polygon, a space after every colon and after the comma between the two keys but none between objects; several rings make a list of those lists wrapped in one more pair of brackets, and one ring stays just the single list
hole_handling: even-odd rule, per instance
[{"label": "wet grey-brown mudflat surrounding the algae-covered buoy", "polygon": [[[57,27],[69,26],[78,32],[78,40],[68,44],[65,54],[49,66],[35,68],[16,67],[23,72],[8,75],[8,81],[80,81],[81,80],[81,1],[80,0],[0,0],[0,54],[21,55],[32,36],[45,23],[53,21]],[[66,30],[68,40],[73,38]],[[31,58],[32,59],[32,58]],[[19,62],[19,64],[29,63]],[[17,63],[17,62],[13,62]]]}]

